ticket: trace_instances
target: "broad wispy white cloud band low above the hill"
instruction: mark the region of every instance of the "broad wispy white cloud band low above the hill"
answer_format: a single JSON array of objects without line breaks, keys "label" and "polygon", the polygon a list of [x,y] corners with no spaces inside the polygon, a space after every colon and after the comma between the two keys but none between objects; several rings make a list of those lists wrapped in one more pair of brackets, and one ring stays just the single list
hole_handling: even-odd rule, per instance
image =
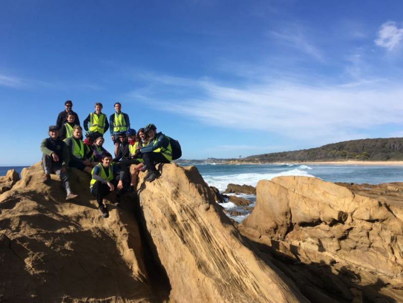
[{"label": "broad wispy white cloud band low above the hill", "polygon": [[[186,90],[186,81],[177,80]],[[161,110],[208,125],[262,131],[320,144],[365,138],[373,129],[401,124],[403,89],[385,81],[368,80],[350,86],[262,82],[243,87],[210,80],[190,81],[189,89],[198,86],[203,94],[175,102],[161,101],[161,97],[149,97],[148,101]],[[169,85],[175,86],[175,81]]]}]

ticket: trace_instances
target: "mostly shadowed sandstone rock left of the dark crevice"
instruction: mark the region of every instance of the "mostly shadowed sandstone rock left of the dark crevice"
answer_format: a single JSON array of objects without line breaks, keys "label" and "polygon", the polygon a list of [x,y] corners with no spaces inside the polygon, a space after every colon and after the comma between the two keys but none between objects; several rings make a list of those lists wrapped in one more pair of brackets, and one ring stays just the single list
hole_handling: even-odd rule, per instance
[{"label": "mostly shadowed sandstone rock left of the dark crevice", "polygon": [[101,219],[90,176],[73,169],[74,202],[60,180],[42,183],[42,168],[24,168],[0,198],[0,301],[151,302],[134,216],[109,205]]}]

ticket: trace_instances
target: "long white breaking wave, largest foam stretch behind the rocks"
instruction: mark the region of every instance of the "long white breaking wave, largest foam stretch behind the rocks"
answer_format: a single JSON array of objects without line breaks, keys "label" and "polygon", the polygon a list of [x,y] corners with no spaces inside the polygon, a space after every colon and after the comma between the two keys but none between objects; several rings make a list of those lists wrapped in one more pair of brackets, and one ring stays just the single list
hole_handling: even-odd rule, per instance
[{"label": "long white breaking wave, largest foam stretch behind the rocks", "polygon": [[271,180],[274,177],[278,176],[307,176],[313,177],[308,174],[306,171],[295,168],[291,170],[286,170],[282,172],[276,173],[239,173],[239,174],[231,174],[231,175],[223,175],[223,176],[212,176],[212,175],[203,175],[203,179],[207,182],[209,186],[215,186],[219,191],[223,191],[227,188],[228,183],[235,184],[246,184],[256,186],[259,180]]}]

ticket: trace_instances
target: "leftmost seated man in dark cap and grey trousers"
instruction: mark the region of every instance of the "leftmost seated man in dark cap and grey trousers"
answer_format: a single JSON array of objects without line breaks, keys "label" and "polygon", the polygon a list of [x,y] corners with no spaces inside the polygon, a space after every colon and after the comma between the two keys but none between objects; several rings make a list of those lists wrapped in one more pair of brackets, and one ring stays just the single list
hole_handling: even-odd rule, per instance
[{"label": "leftmost seated man in dark cap and grey trousers", "polygon": [[62,187],[66,191],[66,200],[76,198],[78,195],[71,192],[67,165],[69,163],[69,151],[66,144],[59,139],[57,126],[49,127],[49,138],[41,142],[42,168],[44,171],[43,182],[50,180],[50,174],[56,173],[62,181]]}]

